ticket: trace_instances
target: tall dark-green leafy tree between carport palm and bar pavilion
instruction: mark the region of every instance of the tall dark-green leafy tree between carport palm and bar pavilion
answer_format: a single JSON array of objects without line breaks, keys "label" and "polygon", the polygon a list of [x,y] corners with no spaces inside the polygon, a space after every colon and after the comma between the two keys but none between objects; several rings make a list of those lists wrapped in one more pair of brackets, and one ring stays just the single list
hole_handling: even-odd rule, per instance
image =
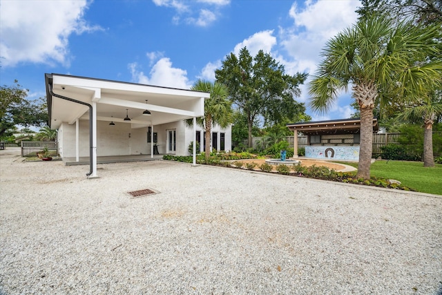
[{"label": "tall dark-green leafy tree between carport palm and bar pavilion", "polygon": [[238,57],[233,53],[227,55],[222,68],[215,70],[215,77],[227,86],[231,101],[247,116],[249,147],[253,122],[259,116],[274,124],[302,109],[294,97],[300,95],[299,85],[305,82],[307,74],[285,74],[284,66],[262,50],[255,57],[245,47]]}]

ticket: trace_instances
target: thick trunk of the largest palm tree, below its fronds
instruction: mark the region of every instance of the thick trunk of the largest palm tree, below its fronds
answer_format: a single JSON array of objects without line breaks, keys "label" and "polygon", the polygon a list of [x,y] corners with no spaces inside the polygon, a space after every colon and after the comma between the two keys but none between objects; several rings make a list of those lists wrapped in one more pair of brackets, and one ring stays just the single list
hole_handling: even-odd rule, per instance
[{"label": "thick trunk of the largest palm tree, below its fronds", "polygon": [[357,178],[370,179],[373,149],[373,108],[361,107],[361,144]]}]

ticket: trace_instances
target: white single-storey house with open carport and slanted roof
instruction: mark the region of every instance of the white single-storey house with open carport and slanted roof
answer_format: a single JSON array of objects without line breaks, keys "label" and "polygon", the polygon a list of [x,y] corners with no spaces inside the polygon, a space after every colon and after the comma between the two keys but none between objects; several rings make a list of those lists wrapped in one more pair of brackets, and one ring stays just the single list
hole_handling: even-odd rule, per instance
[{"label": "white single-storey house with open carport and slanted roof", "polygon": [[[184,120],[204,115],[209,93],[60,74],[45,74],[45,81],[59,154],[89,157],[89,178],[97,177],[97,156],[189,155],[191,142],[204,151],[204,130]],[[209,144],[230,151],[231,126],[214,126]]]}]

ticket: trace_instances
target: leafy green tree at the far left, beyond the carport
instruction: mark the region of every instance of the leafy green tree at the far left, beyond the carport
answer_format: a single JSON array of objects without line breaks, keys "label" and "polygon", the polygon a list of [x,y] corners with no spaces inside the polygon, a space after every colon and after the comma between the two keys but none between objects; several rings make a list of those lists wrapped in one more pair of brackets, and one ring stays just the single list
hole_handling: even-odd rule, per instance
[{"label": "leafy green tree at the far left, beyond the carport", "polygon": [[3,85],[0,89],[0,136],[15,125],[41,126],[48,121],[44,99],[27,100],[28,90],[17,80],[14,83],[15,86]]}]

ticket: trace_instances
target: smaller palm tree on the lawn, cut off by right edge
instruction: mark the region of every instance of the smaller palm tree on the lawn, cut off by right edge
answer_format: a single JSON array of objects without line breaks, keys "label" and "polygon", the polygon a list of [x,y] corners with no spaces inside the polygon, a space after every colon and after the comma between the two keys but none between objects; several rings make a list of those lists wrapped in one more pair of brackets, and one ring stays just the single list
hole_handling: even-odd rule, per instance
[{"label": "smaller palm tree on the lawn, cut off by right edge", "polygon": [[[438,95],[439,94],[439,95]],[[422,122],[423,120],[423,166],[434,166],[433,124],[442,115],[442,91],[434,91],[425,99],[405,108],[396,120],[401,122]]]}]

